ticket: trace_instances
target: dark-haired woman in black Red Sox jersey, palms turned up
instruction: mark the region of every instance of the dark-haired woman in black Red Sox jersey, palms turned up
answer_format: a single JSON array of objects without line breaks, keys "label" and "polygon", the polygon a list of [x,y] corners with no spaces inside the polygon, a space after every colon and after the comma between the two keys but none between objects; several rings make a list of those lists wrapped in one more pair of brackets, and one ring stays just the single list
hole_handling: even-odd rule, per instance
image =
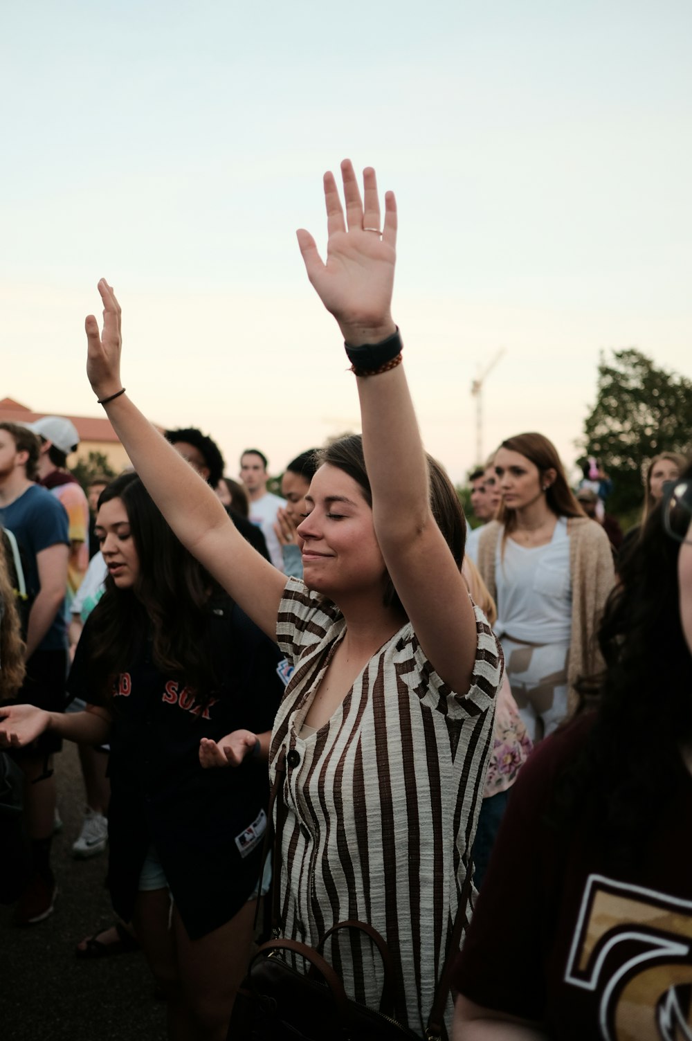
[{"label": "dark-haired woman in black Red Sox jersey, palms turned up", "polygon": [[[95,531],[105,591],[68,679],[86,709],[0,704],[0,747],[47,730],[110,741],[113,907],[133,922],[166,997],[169,1036],[221,1041],[253,938],[280,656],[183,549],[136,475],[101,493]],[[202,769],[200,745],[214,740],[237,769]]]}]

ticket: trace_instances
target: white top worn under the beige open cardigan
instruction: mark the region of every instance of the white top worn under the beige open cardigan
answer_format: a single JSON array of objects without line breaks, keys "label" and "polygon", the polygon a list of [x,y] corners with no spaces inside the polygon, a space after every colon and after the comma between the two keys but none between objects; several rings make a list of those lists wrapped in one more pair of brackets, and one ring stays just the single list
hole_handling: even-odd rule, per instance
[{"label": "white top worn under the beige open cardigan", "polygon": [[530,643],[569,642],[572,583],[567,520],[558,517],[545,545],[519,545],[502,535],[495,551],[497,614],[495,633]]}]

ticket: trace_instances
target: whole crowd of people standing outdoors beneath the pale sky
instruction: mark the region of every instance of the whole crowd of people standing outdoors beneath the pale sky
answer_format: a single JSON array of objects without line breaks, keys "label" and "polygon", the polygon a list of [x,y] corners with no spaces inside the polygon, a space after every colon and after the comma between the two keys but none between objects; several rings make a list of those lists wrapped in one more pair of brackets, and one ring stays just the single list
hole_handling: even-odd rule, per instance
[{"label": "whole crowd of people standing outdoors beneath the pale sky", "polygon": [[[440,993],[455,1041],[689,1036],[692,467],[651,461],[622,540],[597,460],[572,489],[544,435],[509,436],[470,475],[467,529],[406,382],[394,197],[382,213],[371,169],[362,195],[341,178],[326,261],[298,238],[362,435],[289,461],[282,497],[259,449],[236,482],[209,436],[148,423],[103,279],[87,376],[131,471],[85,494],[69,421],[0,423],[0,778],[24,806],[0,900],[18,924],[53,911],[68,739],[73,850],[107,847],[114,915],[77,953],[140,946],[172,1039],[227,1036],[270,891],[282,935],[361,1006],[391,988],[410,1036]],[[358,930],[323,949],[345,920],[386,964]]]}]

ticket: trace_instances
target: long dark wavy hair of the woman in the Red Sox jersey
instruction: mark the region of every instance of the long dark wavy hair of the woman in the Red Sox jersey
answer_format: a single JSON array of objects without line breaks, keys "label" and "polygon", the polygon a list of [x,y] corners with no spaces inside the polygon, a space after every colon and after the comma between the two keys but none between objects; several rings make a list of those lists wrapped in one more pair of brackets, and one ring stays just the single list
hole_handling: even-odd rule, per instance
[{"label": "long dark wavy hair of the woman in the Red Sox jersey", "polygon": [[178,541],[135,474],[124,474],[104,488],[99,509],[112,499],[120,499],[127,512],[139,574],[130,589],[119,589],[110,576],[105,580],[89,618],[89,680],[109,694],[118,674],[127,671],[151,640],[156,667],[184,681],[204,702],[216,682],[209,602],[222,590]]}]

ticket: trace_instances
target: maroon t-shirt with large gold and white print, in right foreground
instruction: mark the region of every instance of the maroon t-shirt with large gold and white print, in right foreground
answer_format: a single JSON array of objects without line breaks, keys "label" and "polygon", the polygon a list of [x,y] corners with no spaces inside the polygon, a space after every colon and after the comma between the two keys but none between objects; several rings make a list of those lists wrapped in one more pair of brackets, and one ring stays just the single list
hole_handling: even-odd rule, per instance
[{"label": "maroon t-shirt with large gold and white print, in right foreground", "polygon": [[455,986],[556,1041],[692,1037],[692,777],[681,758],[640,856],[614,875],[587,820],[567,840],[543,821],[555,777],[587,732],[573,725],[523,766]]}]

